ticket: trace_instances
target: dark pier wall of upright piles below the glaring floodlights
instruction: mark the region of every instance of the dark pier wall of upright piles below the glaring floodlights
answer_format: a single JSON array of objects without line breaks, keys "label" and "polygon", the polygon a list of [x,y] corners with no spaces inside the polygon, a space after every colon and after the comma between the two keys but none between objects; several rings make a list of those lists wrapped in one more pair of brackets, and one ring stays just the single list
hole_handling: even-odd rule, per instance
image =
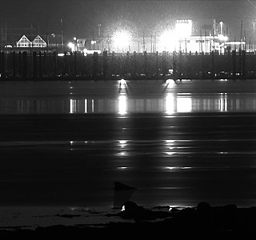
[{"label": "dark pier wall of upright piles below the glaring floodlights", "polygon": [[244,79],[256,78],[256,54],[2,51],[1,80]]}]

